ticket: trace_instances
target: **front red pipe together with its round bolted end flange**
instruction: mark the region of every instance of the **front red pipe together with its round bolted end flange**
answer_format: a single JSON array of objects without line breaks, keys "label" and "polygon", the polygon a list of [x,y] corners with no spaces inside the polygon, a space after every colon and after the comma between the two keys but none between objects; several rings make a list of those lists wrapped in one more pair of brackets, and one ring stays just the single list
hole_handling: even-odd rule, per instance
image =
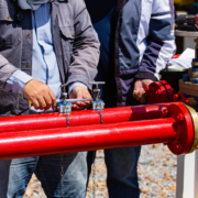
[{"label": "front red pipe together with its round bolted end flange", "polygon": [[167,118],[0,133],[0,160],[153,143],[165,143],[174,154],[185,154],[197,147],[194,122],[189,110],[177,103],[168,106]]}]

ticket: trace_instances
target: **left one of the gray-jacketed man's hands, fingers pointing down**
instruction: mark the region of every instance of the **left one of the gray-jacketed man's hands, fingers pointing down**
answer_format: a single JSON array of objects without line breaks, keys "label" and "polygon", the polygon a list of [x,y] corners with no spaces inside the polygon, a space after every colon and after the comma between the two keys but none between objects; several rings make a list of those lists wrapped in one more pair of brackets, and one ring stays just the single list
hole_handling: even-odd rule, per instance
[{"label": "left one of the gray-jacketed man's hands, fingers pointing down", "polygon": [[31,100],[35,109],[50,109],[56,108],[56,97],[51,88],[36,79],[30,80],[23,90],[23,96]]}]

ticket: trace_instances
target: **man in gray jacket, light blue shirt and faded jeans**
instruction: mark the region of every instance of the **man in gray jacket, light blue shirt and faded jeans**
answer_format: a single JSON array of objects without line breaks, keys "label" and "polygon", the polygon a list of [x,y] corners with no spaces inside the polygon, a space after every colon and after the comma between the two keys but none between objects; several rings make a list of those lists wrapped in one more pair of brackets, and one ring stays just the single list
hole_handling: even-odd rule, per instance
[{"label": "man in gray jacket, light blue shirt and faded jeans", "polygon": [[[66,82],[69,98],[90,98],[98,58],[99,42],[84,0],[0,0],[1,117],[19,114],[29,100],[33,107],[25,113],[55,109]],[[47,197],[85,197],[86,155],[0,161],[0,198],[23,197],[33,173]]]}]

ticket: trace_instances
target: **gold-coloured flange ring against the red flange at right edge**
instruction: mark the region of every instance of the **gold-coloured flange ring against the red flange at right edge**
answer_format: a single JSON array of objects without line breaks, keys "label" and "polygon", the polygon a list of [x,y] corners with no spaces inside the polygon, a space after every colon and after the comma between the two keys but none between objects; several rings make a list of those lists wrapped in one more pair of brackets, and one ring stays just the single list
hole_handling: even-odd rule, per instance
[{"label": "gold-coloured flange ring against the red flange at right edge", "polygon": [[193,122],[194,122],[194,143],[193,146],[190,148],[190,151],[188,153],[193,153],[198,145],[198,117],[197,117],[197,112],[195,111],[195,109],[193,109],[191,107],[184,105],[187,110],[189,111]]}]

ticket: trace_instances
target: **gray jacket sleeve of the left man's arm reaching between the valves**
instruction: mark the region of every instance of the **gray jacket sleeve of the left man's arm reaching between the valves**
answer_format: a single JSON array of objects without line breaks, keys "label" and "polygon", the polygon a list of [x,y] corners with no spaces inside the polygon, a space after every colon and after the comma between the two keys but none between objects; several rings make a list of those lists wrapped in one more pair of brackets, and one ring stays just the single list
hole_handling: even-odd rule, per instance
[{"label": "gray jacket sleeve of the left man's arm reaching between the valves", "polygon": [[97,74],[99,40],[92,28],[84,0],[73,0],[70,2],[75,4],[74,26],[76,35],[67,82],[81,81],[91,89],[89,81],[94,80]]}]

